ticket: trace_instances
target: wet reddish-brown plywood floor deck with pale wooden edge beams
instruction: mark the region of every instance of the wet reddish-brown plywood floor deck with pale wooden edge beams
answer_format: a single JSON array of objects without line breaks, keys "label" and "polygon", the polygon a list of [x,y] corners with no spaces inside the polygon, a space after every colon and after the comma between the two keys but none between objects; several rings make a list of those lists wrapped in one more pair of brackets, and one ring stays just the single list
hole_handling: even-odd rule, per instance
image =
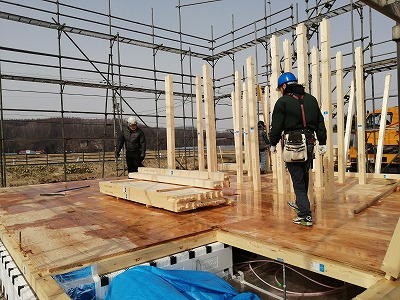
[{"label": "wet reddish-brown plywood floor deck with pale wooden edge beams", "polygon": [[399,191],[353,213],[393,184],[387,179],[360,186],[348,178],[335,185],[334,199],[316,191],[313,227],[292,223],[286,202],[294,196],[278,195],[271,174],[256,194],[233,176],[225,189],[232,205],[182,213],[101,194],[99,181],[0,190],[1,240],[43,299],[62,294],[49,275],[94,263],[105,274],[215,241],[370,287],[385,275],[380,268],[400,216]]}]

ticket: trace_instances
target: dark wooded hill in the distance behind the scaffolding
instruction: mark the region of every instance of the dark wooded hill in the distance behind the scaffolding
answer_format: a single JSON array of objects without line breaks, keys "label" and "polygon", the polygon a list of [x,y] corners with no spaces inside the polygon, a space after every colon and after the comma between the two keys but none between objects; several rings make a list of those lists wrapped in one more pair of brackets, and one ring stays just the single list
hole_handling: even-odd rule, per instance
[{"label": "dark wooded hill in the distance behind the scaffolding", "polygon": [[[145,132],[148,149],[166,149],[165,128],[139,127]],[[98,152],[103,148],[114,151],[119,127],[115,127],[112,120],[104,126],[103,119],[47,118],[3,120],[3,132],[5,153],[26,150],[62,153],[64,142],[67,152]],[[175,138],[177,148],[197,146],[196,129],[186,128],[184,132],[183,128],[175,128]],[[218,132],[217,139],[218,145],[233,144],[231,132]]]}]

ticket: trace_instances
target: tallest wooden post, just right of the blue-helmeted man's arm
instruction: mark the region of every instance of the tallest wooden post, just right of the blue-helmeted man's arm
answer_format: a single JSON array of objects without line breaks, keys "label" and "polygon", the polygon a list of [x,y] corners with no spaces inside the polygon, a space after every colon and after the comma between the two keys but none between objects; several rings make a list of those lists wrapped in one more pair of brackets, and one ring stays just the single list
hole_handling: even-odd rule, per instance
[{"label": "tallest wooden post, just right of the blue-helmeted man's arm", "polygon": [[[325,119],[325,127],[327,130],[326,147],[327,151],[324,160],[327,160],[324,172],[326,174],[325,181],[325,199],[332,199],[333,193],[333,142],[332,142],[332,84],[331,84],[331,39],[330,25],[327,19],[321,22],[321,91],[322,91],[322,112]],[[319,154],[317,154],[319,155]],[[325,165],[325,164],[324,164]]]}]

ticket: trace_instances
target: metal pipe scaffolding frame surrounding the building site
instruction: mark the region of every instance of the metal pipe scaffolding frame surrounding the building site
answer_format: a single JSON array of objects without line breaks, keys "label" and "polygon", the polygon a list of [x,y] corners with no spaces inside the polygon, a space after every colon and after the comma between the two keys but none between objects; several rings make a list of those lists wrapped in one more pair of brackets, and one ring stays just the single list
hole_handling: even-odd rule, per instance
[{"label": "metal pipe scaffolding frame surrounding the building site", "polygon": [[[375,56],[373,53],[373,48],[379,44],[374,44],[372,39],[372,14],[371,9],[369,9],[369,36],[366,36],[364,28],[364,10],[366,6],[360,1],[348,1],[349,3],[339,6],[335,0],[322,1],[315,0],[315,5],[309,6],[309,1],[305,1],[306,8],[305,13],[307,15],[306,20],[299,20],[298,4],[296,6],[290,5],[282,10],[267,12],[267,0],[264,0],[264,17],[255,20],[248,25],[235,28],[234,16],[232,16],[232,29],[221,36],[214,37],[214,31],[211,27],[211,37],[204,38],[183,32],[182,28],[182,8],[188,5],[181,4],[179,1],[178,17],[179,17],[179,30],[174,31],[170,29],[165,29],[155,26],[153,10],[151,12],[151,24],[144,24],[136,22],[134,20],[128,20],[120,18],[112,14],[111,2],[108,1],[108,13],[101,13],[96,11],[89,11],[87,9],[69,5],[67,1],[62,0],[43,0],[42,3],[48,5],[54,5],[53,10],[49,10],[40,5],[23,5],[18,3],[12,3],[10,1],[0,0],[0,4],[5,5],[9,10],[19,9],[26,12],[25,14],[19,15],[12,13],[10,11],[0,11],[0,19],[7,20],[10,22],[18,22],[23,24],[28,24],[32,27],[41,27],[46,29],[51,29],[57,31],[57,44],[58,44],[58,54],[52,54],[50,52],[38,52],[29,49],[18,49],[13,47],[6,47],[0,45],[0,53],[7,54],[24,54],[28,57],[35,59],[28,60],[28,62],[23,60],[15,60],[8,58],[0,58],[0,138],[1,138],[1,184],[2,186],[7,185],[6,180],[6,163],[4,149],[4,132],[3,132],[3,121],[4,113],[12,111],[25,111],[32,113],[54,113],[59,114],[62,122],[68,114],[87,114],[87,115],[103,115],[104,117],[104,131],[103,131],[103,143],[105,145],[106,140],[115,140],[115,133],[118,129],[122,127],[123,119],[130,114],[136,115],[145,126],[148,126],[148,120],[155,120],[155,136],[157,141],[160,139],[159,129],[162,127],[162,120],[165,119],[165,115],[162,114],[162,109],[160,105],[160,100],[165,95],[164,89],[160,86],[164,83],[162,76],[167,74],[174,75],[174,96],[178,97],[181,102],[181,112],[177,114],[176,118],[181,119],[184,129],[184,151],[186,154],[187,148],[195,149],[195,108],[194,99],[195,94],[193,93],[193,79],[195,75],[193,74],[193,65],[196,63],[208,63],[212,68],[212,79],[214,82],[214,95],[215,95],[215,107],[221,105],[227,105],[225,101],[229,102],[230,92],[217,92],[224,89],[233,89],[234,86],[234,72],[238,67],[237,55],[245,51],[252,53],[254,51],[256,57],[256,77],[258,84],[261,86],[273,86],[274,83],[269,82],[270,79],[270,62],[269,62],[269,40],[272,35],[276,36],[290,36],[291,44],[295,46],[296,26],[301,22],[307,27],[307,38],[308,40],[319,38],[319,22],[323,18],[335,18],[343,14],[351,15],[351,40],[346,41],[341,44],[333,45],[332,48],[338,48],[342,46],[351,46],[352,51],[345,53],[344,56],[353,56],[347,67],[344,68],[345,74],[354,72],[354,48],[356,44],[360,44],[364,51],[369,51],[369,62],[365,63],[365,77],[369,77],[371,80],[371,99],[366,99],[366,101],[371,100],[373,108],[375,108],[375,80],[374,74],[394,70],[397,67],[396,51],[392,53],[385,53],[383,55]],[[213,2],[213,1],[208,1]],[[192,6],[197,4],[206,4],[204,2],[193,3]],[[18,10],[18,11],[19,11]],[[77,17],[76,15],[63,13],[64,10],[71,10],[79,12],[79,14],[93,15],[93,19],[84,19],[82,17]],[[29,16],[30,14],[41,14],[47,16],[46,19],[37,19]],[[355,36],[355,17],[357,14],[359,17],[359,24],[361,32],[359,36]],[[98,21],[97,19],[104,18],[106,21]],[[52,22],[49,21],[52,20]],[[73,22],[81,22],[87,25],[87,28],[81,28],[78,26],[67,25],[62,23],[62,20],[70,20]],[[94,20],[96,19],[96,20]],[[120,25],[125,24],[125,27]],[[103,28],[103,30],[93,30],[89,29],[91,27]],[[96,27],[96,28],[97,28]],[[142,30],[131,29],[132,28],[142,28]],[[123,32],[123,34],[120,33]],[[139,36],[141,38],[137,38]],[[172,37],[170,37],[172,36]],[[105,40],[109,42],[109,53],[108,61],[92,60],[83,50],[79,43],[75,40],[81,37],[94,38],[96,40]],[[77,56],[67,56],[63,54],[63,40],[69,40],[84,58]],[[160,41],[160,42],[157,42]],[[368,41],[368,45],[365,47],[364,42]],[[318,43],[317,43],[318,44]],[[122,46],[138,47],[151,49],[152,51],[152,68],[144,68],[130,64],[122,63],[121,59],[121,47]],[[264,58],[261,58],[258,52],[258,46],[261,46]],[[294,49],[295,50],[295,49]],[[168,55],[179,56],[179,71],[170,71],[158,67],[158,56],[160,53],[168,53]],[[310,53],[309,53],[310,54]],[[17,55],[18,56],[18,55]],[[115,62],[116,56],[116,62]],[[380,56],[385,56],[384,59],[377,60]],[[295,56],[294,56],[295,57]],[[57,64],[51,63],[37,63],[36,59],[40,60],[57,60]],[[232,63],[232,73],[217,75],[218,62],[222,59],[227,59]],[[83,65],[89,63],[90,67],[75,67],[74,65]],[[282,60],[281,60],[282,63]],[[2,65],[16,65],[16,66],[26,66],[32,68],[45,68],[46,70],[57,70],[58,78],[52,76],[33,76],[33,75],[17,75],[2,71]],[[71,64],[69,66],[68,64]],[[66,66],[67,65],[67,66]],[[295,66],[294,66],[295,67]],[[77,74],[85,74],[87,76],[97,76],[100,75],[102,82],[92,82],[90,80],[72,80],[66,78],[65,74],[70,72],[75,72]],[[144,73],[145,75],[140,75]],[[334,73],[334,72],[333,72]],[[243,74],[245,74],[243,72]],[[245,78],[243,79],[245,80]],[[54,110],[43,110],[43,109],[10,109],[4,107],[4,93],[2,81],[18,81],[18,82],[32,82],[40,84],[51,84],[59,86],[59,99],[60,99],[60,109]],[[133,81],[136,84],[126,84],[126,81]],[[142,86],[141,82],[143,82]],[[145,84],[146,83],[146,84]],[[66,87],[79,87],[79,88],[95,88],[104,90],[104,113],[99,114],[94,111],[66,111],[64,107],[64,97],[66,95]],[[144,95],[153,95],[154,99],[154,111],[150,114],[137,113],[133,108],[132,102],[127,100],[123,94],[126,93],[138,93]],[[112,110],[109,110],[109,107]],[[107,137],[106,126],[108,122],[112,122],[114,136]],[[230,119],[231,117],[219,117],[216,116],[216,122],[224,121]],[[147,120],[147,121],[146,121]],[[187,134],[187,124],[189,124],[190,135]],[[64,133],[64,123],[62,124],[61,140],[63,141],[63,153],[64,153],[64,180],[67,181],[66,164],[67,164],[67,154],[66,154],[66,142],[67,137]],[[218,126],[217,126],[218,128]],[[82,137],[87,139],[87,137]],[[157,152],[160,153],[161,146],[157,146]],[[192,152],[193,156],[195,151]],[[160,157],[160,155],[158,155]],[[185,155],[186,157],[186,155]],[[105,146],[103,147],[103,176],[104,176],[104,158],[105,158]],[[123,162],[122,162],[123,163]],[[185,163],[186,165],[186,163]],[[182,166],[185,167],[185,166]],[[118,170],[118,168],[117,168]],[[123,168],[119,168],[123,170]],[[120,176],[122,173],[117,173]]]}]

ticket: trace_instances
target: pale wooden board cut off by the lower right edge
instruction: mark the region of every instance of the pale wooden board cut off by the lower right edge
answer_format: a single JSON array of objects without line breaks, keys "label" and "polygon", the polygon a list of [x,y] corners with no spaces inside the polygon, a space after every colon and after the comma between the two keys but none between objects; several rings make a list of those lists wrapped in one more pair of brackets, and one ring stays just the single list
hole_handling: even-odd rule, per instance
[{"label": "pale wooden board cut off by the lower right edge", "polygon": [[381,270],[386,272],[386,277],[399,279],[400,275],[400,218],[393,232],[392,239],[385,258],[382,262]]}]

